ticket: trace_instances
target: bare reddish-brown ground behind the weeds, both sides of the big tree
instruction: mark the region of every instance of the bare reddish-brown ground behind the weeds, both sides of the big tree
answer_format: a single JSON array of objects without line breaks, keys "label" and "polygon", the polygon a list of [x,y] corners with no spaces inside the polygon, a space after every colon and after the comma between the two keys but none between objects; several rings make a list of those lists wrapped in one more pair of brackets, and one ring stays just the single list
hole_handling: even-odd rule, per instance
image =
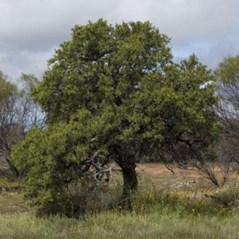
[{"label": "bare reddish-brown ground behind the weeds, both sides of the big tree", "polygon": [[[174,191],[189,197],[204,197],[209,192],[217,190],[212,183],[205,179],[197,170],[182,169],[173,166],[172,173],[165,165],[158,163],[146,163],[137,165],[139,186],[147,184],[160,190]],[[119,178],[119,172],[113,175],[113,181]],[[0,214],[26,212],[32,209],[23,199],[20,182],[13,180],[6,170],[0,168]]]}]

